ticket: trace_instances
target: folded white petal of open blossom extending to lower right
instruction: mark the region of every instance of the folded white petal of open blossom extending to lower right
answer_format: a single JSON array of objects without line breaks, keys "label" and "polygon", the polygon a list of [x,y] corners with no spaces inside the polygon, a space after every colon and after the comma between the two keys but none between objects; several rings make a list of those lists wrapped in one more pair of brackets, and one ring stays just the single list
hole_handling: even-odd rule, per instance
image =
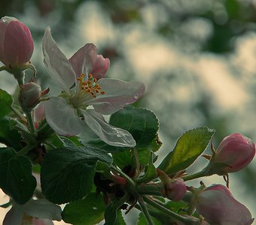
[{"label": "folded white petal of open blossom extending to lower right", "polygon": [[83,110],[81,113],[84,115],[84,121],[88,127],[108,145],[117,147],[134,147],[136,145],[136,141],[127,130],[111,126],[101,114],[94,110]]}]

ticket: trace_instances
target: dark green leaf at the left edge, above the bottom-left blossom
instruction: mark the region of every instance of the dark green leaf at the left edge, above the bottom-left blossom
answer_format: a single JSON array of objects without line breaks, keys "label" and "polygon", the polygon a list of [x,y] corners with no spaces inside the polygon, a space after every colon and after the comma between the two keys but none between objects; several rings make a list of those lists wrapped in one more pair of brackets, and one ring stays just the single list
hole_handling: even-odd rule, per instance
[{"label": "dark green leaf at the left edge, above the bottom-left blossom", "polygon": [[36,180],[32,163],[27,157],[15,154],[13,148],[0,148],[0,187],[22,205],[34,193]]}]

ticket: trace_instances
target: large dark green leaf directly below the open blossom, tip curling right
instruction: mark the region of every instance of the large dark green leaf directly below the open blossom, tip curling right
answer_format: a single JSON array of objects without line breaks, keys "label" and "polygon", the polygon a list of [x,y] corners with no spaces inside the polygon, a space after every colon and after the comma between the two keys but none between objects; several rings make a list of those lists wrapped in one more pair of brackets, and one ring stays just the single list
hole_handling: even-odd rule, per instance
[{"label": "large dark green leaf directly below the open blossom, tip curling right", "polygon": [[44,196],[51,202],[62,204],[90,193],[97,160],[107,164],[112,162],[108,153],[89,146],[49,151],[41,165]]}]

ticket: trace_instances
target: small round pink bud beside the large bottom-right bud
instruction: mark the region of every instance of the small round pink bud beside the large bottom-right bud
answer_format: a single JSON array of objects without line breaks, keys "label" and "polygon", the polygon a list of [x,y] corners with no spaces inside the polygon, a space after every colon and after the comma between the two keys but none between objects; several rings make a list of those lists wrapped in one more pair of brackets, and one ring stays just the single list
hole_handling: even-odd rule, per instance
[{"label": "small round pink bud beside the large bottom-right bud", "polygon": [[187,193],[187,186],[183,179],[175,178],[165,184],[165,195],[168,199],[178,202],[184,198]]}]

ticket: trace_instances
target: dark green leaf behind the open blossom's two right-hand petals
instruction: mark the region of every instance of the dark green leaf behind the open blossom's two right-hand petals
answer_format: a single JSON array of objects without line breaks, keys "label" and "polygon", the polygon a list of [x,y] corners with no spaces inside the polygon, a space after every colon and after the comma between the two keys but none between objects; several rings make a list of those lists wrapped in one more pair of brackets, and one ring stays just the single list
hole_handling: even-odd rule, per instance
[{"label": "dark green leaf behind the open blossom's two right-hand petals", "polygon": [[157,136],[159,121],[148,109],[125,107],[111,115],[109,124],[129,131],[136,140],[136,148],[145,148]]}]

